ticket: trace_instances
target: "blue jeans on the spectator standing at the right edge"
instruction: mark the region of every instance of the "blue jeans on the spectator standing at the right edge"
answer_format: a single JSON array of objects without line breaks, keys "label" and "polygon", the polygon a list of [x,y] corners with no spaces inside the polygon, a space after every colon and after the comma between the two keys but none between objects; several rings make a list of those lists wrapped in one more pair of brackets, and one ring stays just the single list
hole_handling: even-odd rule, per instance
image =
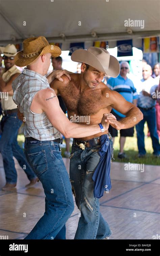
[{"label": "blue jeans on the spectator standing at the right edge", "polygon": [[153,146],[153,154],[159,155],[160,154],[160,144],[159,144],[159,138],[157,134],[157,124],[156,124],[156,109],[152,108],[150,110],[143,110],[139,108],[140,111],[143,113],[143,120],[141,120],[136,125],[136,131],[137,131],[137,144],[138,144],[138,151],[140,155],[145,155],[145,146],[144,146],[144,123],[145,121],[148,124],[150,135],[152,139],[152,146]]}]

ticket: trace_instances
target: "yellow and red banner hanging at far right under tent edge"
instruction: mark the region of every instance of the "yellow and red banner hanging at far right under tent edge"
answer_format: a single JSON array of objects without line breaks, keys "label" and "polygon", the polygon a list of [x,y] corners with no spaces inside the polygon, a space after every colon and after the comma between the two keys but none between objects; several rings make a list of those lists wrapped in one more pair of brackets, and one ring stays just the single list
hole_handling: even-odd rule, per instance
[{"label": "yellow and red banner hanging at far right under tent edge", "polygon": [[143,38],[143,53],[159,52],[159,38]]}]

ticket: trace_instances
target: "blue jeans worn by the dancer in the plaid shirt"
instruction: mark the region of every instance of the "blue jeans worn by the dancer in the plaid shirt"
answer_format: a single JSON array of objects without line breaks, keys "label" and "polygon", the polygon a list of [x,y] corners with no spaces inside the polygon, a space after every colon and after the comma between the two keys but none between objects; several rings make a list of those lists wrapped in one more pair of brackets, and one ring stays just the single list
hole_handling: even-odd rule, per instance
[{"label": "blue jeans worn by the dancer in the plaid shirt", "polygon": [[33,144],[26,139],[25,155],[46,195],[45,213],[25,239],[65,239],[65,223],[74,202],[60,144],[39,140]]}]

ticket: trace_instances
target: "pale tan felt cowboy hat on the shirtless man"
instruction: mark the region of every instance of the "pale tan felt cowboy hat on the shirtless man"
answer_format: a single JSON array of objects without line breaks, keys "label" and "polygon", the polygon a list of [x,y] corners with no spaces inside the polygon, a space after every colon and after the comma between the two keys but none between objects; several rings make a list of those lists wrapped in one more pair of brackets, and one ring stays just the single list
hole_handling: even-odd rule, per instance
[{"label": "pale tan felt cowboy hat on the shirtless man", "polygon": [[119,75],[118,60],[103,48],[91,46],[87,50],[78,49],[72,53],[71,60],[88,64],[111,77]]}]

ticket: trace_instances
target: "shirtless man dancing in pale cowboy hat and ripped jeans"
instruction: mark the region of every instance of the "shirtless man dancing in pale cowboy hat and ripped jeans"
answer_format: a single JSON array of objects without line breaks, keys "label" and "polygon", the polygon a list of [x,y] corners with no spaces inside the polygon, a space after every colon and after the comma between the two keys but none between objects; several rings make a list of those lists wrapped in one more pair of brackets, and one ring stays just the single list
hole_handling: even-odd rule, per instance
[{"label": "shirtless man dancing in pale cowboy hat and ripped jeans", "polygon": [[[76,50],[71,59],[82,63],[81,74],[71,74],[71,80],[63,75],[63,82],[55,79],[51,84],[55,93],[63,98],[70,121],[97,124],[101,122],[103,114],[110,113],[112,108],[126,115],[120,121],[113,118],[108,121],[117,130],[130,128],[142,120],[143,115],[137,107],[101,82],[105,74],[112,77],[119,74],[119,63],[108,51],[89,47],[87,51]],[[108,134],[108,130],[104,134]],[[79,134],[79,138],[73,140],[70,180],[76,205],[81,211],[75,239],[105,239],[111,235],[111,230],[100,213],[99,199],[94,197],[92,180],[100,161],[98,150],[101,135],[101,132],[91,136]],[[108,137],[113,150],[110,134]]]}]

